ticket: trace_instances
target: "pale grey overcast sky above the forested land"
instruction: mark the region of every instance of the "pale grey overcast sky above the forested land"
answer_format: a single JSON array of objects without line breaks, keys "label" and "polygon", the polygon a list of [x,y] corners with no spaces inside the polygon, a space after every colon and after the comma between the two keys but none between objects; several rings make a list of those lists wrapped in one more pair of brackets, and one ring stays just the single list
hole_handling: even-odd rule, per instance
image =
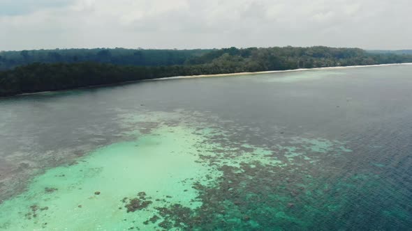
[{"label": "pale grey overcast sky above the forested land", "polygon": [[411,0],[0,0],[0,50],[412,49]]}]

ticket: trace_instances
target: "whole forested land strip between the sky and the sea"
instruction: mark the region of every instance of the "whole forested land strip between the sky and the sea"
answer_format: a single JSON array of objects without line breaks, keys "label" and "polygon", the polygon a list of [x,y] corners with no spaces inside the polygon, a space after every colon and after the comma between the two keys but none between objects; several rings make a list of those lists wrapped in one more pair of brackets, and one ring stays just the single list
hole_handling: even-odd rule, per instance
[{"label": "whole forested land strip between the sky and the sea", "polygon": [[412,63],[412,51],[358,48],[0,51],[0,96],[200,74]]}]

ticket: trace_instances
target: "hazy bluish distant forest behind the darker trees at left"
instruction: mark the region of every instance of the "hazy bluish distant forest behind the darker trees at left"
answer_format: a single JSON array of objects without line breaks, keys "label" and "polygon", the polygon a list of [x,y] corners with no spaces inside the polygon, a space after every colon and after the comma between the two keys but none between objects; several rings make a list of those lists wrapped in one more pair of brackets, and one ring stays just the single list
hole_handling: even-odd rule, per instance
[{"label": "hazy bluish distant forest behind the darker trees at left", "polygon": [[116,65],[183,65],[193,56],[210,50],[191,49],[54,49],[0,51],[0,70],[9,70],[30,63],[112,63]]}]

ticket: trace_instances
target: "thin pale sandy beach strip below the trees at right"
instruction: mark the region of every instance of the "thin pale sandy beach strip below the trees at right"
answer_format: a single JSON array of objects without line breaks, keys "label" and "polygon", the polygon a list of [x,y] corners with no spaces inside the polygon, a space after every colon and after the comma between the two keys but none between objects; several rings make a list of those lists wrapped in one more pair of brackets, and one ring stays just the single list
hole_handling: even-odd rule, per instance
[{"label": "thin pale sandy beach strip below the trees at right", "polygon": [[270,74],[270,73],[282,73],[282,72],[302,72],[305,70],[337,70],[346,68],[358,68],[358,67],[382,67],[382,66],[397,66],[397,65],[412,65],[412,63],[387,63],[387,64],[374,64],[374,65],[353,65],[353,66],[337,66],[337,67],[313,67],[313,68],[299,68],[290,70],[269,70],[265,72],[236,72],[227,74],[198,74],[198,75],[187,75],[187,76],[177,76],[177,77],[164,77],[159,79],[145,79],[143,81],[160,81],[160,80],[170,80],[170,79],[194,79],[194,78],[206,78],[206,77],[230,77],[230,76],[242,76],[248,74]]}]

